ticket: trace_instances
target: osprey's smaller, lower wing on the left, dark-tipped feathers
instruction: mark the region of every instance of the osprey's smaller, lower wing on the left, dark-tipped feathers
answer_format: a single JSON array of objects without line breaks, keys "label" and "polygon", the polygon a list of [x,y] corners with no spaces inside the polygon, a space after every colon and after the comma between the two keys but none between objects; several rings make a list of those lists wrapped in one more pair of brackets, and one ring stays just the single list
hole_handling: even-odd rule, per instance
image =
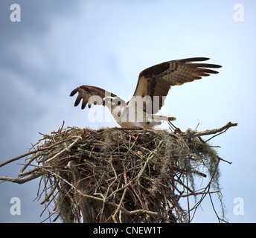
[{"label": "osprey's smaller, lower wing on the left, dark-tipped feathers", "polygon": [[115,94],[112,94],[109,91],[106,91],[104,89],[100,89],[94,86],[80,86],[77,87],[77,89],[74,89],[71,91],[70,96],[73,97],[74,94],[77,95],[77,99],[74,102],[74,106],[77,106],[80,101],[83,99],[81,109],[84,109],[86,107],[86,104],[88,104],[88,107],[90,108],[92,104],[94,105],[101,105],[103,97],[106,96],[111,96],[111,97],[116,97]]}]

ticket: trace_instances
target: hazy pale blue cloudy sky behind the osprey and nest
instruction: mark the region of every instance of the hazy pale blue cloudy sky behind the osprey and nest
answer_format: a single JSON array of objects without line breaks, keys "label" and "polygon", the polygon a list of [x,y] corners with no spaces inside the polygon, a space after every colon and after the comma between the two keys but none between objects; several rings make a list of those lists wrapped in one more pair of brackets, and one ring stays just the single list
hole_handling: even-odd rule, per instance
[{"label": "hazy pale blue cloudy sky behind the osprey and nest", "polygon": [[[21,22],[10,21],[13,3],[20,4]],[[235,4],[243,5],[243,22],[234,21]],[[117,125],[93,123],[88,108],[75,108],[69,94],[77,86],[99,86],[129,100],[144,68],[210,57],[223,65],[220,74],[173,87],[162,113],[175,116],[183,131],[198,123],[198,130],[239,123],[212,143],[232,161],[220,164],[228,220],[256,222],[255,10],[256,1],[246,0],[1,0],[0,163],[28,152],[42,138],[38,132],[51,133],[63,120],[82,128]],[[20,169],[1,167],[0,176],[16,177]],[[33,202],[38,182],[0,184],[0,222],[44,219],[40,201]],[[10,214],[12,197],[21,200],[21,216]],[[244,201],[243,216],[233,213],[237,197]],[[193,222],[217,222],[208,199]]]}]

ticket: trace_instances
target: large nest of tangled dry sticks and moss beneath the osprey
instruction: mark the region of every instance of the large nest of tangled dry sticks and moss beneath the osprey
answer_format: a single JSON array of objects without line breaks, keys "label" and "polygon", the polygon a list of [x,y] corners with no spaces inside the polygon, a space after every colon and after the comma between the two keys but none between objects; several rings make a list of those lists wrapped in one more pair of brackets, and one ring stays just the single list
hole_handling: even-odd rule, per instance
[{"label": "large nest of tangled dry sticks and moss beneath the osprey", "polygon": [[[141,128],[61,127],[43,135],[33,151],[0,164],[26,157],[17,179],[0,180],[22,184],[40,177],[42,213],[52,207],[48,219],[54,221],[191,222],[205,196],[220,194],[218,166],[224,161],[201,136],[219,135],[236,125],[179,135]],[[195,177],[207,177],[207,186],[197,190]],[[200,199],[193,207],[188,202],[185,210],[180,199],[189,196]]]}]

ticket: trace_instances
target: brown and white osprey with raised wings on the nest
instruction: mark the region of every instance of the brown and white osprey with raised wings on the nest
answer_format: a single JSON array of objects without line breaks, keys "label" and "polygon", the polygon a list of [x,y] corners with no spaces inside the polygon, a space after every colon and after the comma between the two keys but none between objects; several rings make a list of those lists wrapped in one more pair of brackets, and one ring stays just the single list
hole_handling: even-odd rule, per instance
[{"label": "brown and white osprey with raised wings on the nest", "polygon": [[220,65],[198,61],[209,58],[197,57],[162,62],[144,69],[138,76],[138,83],[132,98],[126,103],[117,95],[95,86],[80,86],[71,91],[70,96],[78,92],[74,106],[82,102],[82,109],[92,104],[107,106],[117,123],[122,126],[141,126],[151,128],[164,120],[176,120],[173,117],[155,115],[164,105],[171,86],[199,80],[202,76],[218,74],[209,68],[220,68]]}]

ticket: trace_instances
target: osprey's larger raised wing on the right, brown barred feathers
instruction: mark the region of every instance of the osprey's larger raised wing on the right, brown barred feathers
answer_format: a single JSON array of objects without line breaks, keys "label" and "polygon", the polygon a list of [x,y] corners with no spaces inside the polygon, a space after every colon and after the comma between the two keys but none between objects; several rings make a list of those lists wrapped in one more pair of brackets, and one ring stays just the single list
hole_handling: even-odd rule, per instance
[{"label": "osprey's larger raised wing on the right, brown barred feathers", "polygon": [[133,96],[150,96],[149,98],[153,102],[152,114],[155,114],[164,105],[164,98],[171,86],[199,80],[210,74],[218,74],[217,71],[209,68],[220,68],[222,66],[197,63],[197,61],[205,60],[209,60],[209,58],[172,60],[146,68],[138,76],[138,83]]}]

